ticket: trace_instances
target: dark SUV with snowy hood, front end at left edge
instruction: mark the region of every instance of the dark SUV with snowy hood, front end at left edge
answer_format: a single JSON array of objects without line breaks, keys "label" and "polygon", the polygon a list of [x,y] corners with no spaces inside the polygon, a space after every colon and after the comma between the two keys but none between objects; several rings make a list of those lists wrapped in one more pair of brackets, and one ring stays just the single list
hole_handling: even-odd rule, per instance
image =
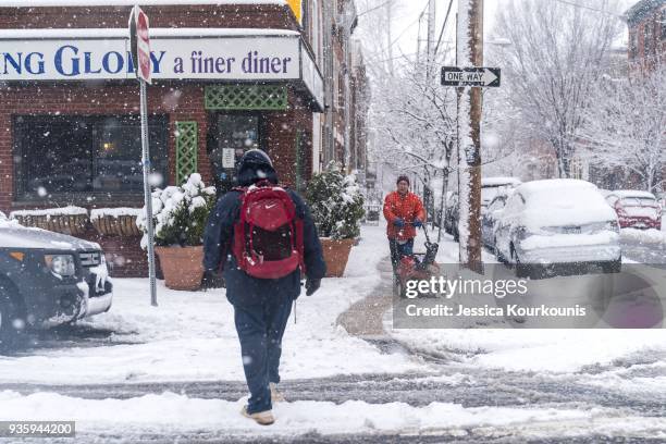
[{"label": "dark SUV with snowy hood, front end at left edge", "polygon": [[0,212],[0,350],[25,328],[50,328],[111,308],[98,244],[9,221]]}]

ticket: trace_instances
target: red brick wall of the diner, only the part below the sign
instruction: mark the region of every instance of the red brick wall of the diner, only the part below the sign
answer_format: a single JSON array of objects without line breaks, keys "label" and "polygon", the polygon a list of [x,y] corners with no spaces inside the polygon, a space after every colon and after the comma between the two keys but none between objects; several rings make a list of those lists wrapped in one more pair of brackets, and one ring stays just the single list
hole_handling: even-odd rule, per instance
[{"label": "red brick wall of the diner, only the part below the sign", "polygon": [[[169,184],[175,182],[175,122],[196,121],[198,124],[198,170],[206,183],[212,183],[212,170],[207,152],[208,112],[203,109],[202,84],[164,83],[150,87],[148,108],[151,113],[169,116]],[[306,141],[311,140],[311,112],[303,99],[289,88],[289,108],[286,112],[267,112],[267,141],[269,155],[274,159],[275,169],[283,183],[294,186],[296,132],[304,132]],[[10,212],[20,208],[48,208],[53,202],[15,202],[13,169],[12,116],[22,114],[110,115],[136,114],[139,109],[138,86],[135,83],[61,83],[30,84],[0,89],[0,209]],[[307,156],[305,173],[311,173],[311,156]],[[114,200],[112,203],[96,205],[85,201],[59,201],[58,205],[74,203],[86,208],[132,206],[141,207],[143,199],[133,201]],[[99,237],[92,230],[85,236],[100,243],[107,254],[124,258],[116,263],[115,275],[146,275],[145,252],[138,248],[137,239]]]}]

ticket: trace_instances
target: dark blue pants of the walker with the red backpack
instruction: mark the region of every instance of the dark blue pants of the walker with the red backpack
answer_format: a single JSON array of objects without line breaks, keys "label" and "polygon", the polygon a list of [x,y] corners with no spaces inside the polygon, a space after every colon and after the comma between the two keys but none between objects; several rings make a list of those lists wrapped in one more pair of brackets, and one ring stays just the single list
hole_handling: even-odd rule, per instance
[{"label": "dark blue pants of the walker with the red backpack", "polygon": [[266,295],[262,299],[258,305],[234,305],[250,414],[272,408],[269,383],[280,382],[282,335],[292,312],[291,297]]}]

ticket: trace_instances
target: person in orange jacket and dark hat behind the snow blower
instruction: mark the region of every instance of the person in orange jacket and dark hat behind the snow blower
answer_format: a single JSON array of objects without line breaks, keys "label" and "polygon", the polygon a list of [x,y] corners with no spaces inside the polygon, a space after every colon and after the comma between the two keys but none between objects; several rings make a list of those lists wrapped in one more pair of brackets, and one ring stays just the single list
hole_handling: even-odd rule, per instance
[{"label": "person in orange jacket and dark hat behind the snow blower", "polygon": [[411,254],[416,229],[423,225],[425,221],[423,202],[417,195],[409,193],[409,177],[398,176],[396,185],[397,190],[388,194],[384,199],[384,218],[388,222],[386,235],[394,272],[400,257]]}]

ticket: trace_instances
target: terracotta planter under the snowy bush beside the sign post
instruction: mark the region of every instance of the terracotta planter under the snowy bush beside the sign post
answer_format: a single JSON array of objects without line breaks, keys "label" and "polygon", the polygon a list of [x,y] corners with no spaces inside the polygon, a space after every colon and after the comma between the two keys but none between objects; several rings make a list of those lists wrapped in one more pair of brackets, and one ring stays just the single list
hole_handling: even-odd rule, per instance
[{"label": "terracotta planter under the snowy bush beside the sign post", "polygon": [[203,278],[203,247],[155,247],[171,289],[199,289]]}]

